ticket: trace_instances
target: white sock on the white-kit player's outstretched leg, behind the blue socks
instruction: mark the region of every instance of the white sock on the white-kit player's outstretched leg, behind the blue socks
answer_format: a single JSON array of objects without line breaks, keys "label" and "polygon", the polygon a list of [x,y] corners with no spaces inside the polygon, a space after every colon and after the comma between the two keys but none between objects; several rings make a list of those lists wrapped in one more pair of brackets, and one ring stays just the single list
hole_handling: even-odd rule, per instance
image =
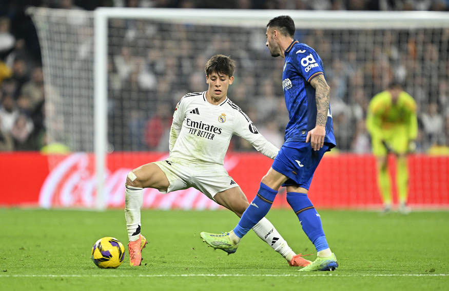
[{"label": "white sock on the white-kit player's outstretched leg, behind the blue socks", "polygon": [[257,236],[266,242],[270,247],[279,252],[288,262],[296,255],[294,251],[288,246],[281,234],[265,217],[261,219],[253,228]]}]

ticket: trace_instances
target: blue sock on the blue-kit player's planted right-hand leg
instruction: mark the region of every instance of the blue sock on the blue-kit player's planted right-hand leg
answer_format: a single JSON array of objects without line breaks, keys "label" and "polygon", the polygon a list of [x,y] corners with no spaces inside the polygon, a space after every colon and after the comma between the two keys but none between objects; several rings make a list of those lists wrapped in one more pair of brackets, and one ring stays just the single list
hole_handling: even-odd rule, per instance
[{"label": "blue sock on the blue-kit player's planted right-hand leg", "polygon": [[298,216],[302,229],[317,251],[329,247],[324,235],[321,218],[305,193],[287,192],[287,202]]}]

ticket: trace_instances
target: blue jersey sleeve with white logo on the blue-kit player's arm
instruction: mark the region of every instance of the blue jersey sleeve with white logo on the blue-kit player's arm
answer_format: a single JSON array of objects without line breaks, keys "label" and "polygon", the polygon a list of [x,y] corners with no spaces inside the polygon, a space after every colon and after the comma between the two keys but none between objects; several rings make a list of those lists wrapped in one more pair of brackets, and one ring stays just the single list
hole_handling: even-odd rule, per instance
[{"label": "blue jersey sleeve with white logo on the blue-kit player's arm", "polygon": [[291,53],[295,54],[295,57],[292,58],[294,60],[293,65],[307,82],[318,75],[324,74],[323,63],[313,48],[300,46]]}]

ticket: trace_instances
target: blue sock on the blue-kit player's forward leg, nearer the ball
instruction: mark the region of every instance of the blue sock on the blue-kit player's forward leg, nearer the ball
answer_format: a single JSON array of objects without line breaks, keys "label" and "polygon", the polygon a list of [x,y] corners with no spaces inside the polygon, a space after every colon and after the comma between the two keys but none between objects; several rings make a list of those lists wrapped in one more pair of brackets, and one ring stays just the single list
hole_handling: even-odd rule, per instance
[{"label": "blue sock on the blue-kit player's forward leg, nearer the ball", "polygon": [[234,228],[234,233],[237,237],[243,238],[243,235],[248,233],[253,226],[265,217],[271,208],[271,204],[275,201],[276,194],[278,194],[278,191],[260,183],[256,197],[252,199],[249,207],[243,212],[239,224]]}]

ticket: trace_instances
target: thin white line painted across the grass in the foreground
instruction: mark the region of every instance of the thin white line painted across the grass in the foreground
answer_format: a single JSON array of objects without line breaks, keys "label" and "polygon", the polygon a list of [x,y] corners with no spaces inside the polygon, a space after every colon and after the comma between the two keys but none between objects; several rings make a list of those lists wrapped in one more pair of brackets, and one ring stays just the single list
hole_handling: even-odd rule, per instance
[{"label": "thin white line painted across the grass in the foreground", "polygon": [[449,274],[365,274],[365,275],[350,275],[350,274],[282,274],[282,275],[271,275],[271,274],[259,274],[259,275],[245,275],[245,274],[181,274],[181,275],[0,275],[2,277],[50,277],[50,278],[60,278],[60,277],[323,277],[323,276],[336,276],[336,277],[434,277],[434,276],[449,276]]}]

